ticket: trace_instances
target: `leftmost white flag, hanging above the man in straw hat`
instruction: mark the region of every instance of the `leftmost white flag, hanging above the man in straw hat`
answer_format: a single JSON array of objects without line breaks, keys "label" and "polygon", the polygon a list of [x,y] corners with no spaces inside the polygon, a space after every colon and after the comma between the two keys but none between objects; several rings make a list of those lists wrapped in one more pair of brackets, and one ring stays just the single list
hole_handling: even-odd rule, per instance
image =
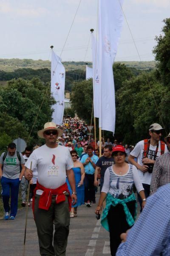
[{"label": "leftmost white flag, hanging above the man in straw hat", "polygon": [[62,125],[64,115],[64,90],[65,90],[65,68],[61,63],[61,58],[51,51],[51,93],[56,104],[53,105],[53,122]]}]

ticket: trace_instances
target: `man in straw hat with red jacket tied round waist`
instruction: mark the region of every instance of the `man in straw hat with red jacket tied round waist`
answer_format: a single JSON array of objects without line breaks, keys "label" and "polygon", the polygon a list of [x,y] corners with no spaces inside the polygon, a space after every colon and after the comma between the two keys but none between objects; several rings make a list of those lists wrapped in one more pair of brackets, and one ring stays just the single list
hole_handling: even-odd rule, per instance
[{"label": "man in straw hat with red jacket tied round waist", "polygon": [[[45,145],[33,151],[26,162],[25,177],[32,178],[30,170],[37,166],[38,180],[34,189],[33,212],[37,226],[40,255],[65,256],[70,224],[71,203],[77,202],[73,161],[70,151],[56,143],[62,135],[53,122],[47,122],[38,136]],[[31,167],[32,163],[32,167]],[[70,196],[66,175],[71,186]],[[53,224],[55,233],[53,235]],[[52,244],[54,241],[54,245]]]}]

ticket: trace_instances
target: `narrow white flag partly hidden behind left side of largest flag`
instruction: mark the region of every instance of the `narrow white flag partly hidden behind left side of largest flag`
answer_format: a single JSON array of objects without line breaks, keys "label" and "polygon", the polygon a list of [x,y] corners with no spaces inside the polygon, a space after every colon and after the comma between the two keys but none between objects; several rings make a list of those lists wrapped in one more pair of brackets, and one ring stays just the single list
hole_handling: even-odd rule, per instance
[{"label": "narrow white flag partly hidden behind left side of largest flag", "polygon": [[92,59],[93,59],[93,100],[94,117],[99,117],[99,42],[91,33]]}]

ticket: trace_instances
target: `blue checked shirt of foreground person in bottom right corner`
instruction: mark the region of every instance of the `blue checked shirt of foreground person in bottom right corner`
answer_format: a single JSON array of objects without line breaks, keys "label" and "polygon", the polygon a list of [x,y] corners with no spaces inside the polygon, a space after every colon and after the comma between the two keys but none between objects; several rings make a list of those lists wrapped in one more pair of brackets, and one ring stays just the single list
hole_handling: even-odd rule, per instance
[{"label": "blue checked shirt of foreground person in bottom right corner", "polygon": [[116,256],[170,256],[170,184],[147,198]]}]

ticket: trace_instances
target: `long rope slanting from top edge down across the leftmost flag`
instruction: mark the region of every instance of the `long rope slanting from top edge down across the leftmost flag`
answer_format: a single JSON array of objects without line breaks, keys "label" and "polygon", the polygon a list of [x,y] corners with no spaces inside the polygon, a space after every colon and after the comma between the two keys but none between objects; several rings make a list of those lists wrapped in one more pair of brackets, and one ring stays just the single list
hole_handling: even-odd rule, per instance
[{"label": "long rope slanting from top edge down across the leftmost flag", "polygon": [[[65,44],[66,44],[66,42],[67,42],[68,36],[69,36],[69,34],[70,34],[71,28],[72,28],[72,26],[73,26],[73,23],[74,23],[74,20],[75,20],[76,15],[77,15],[77,12],[78,12],[78,9],[79,9],[79,6],[80,6],[81,1],[82,1],[82,0],[79,1],[79,5],[78,5],[77,10],[76,10],[76,13],[75,13],[75,15],[74,15],[74,19],[73,19],[73,21],[72,21],[72,23],[71,23],[71,27],[70,27],[70,29],[69,29],[69,31],[68,31],[68,35],[67,35],[67,37],[66,37],[66,39],[65,39],[65,43],[64,43],[64,45],[63,45],[63,47],[62,47],[62,51],[61,51],[61,53],[60,53],[60,55],[59,55],[59,59],[61,58],[62,52],[63,52],[63,50],[64,50],[64,47],[65,47]],[[52,48],[51,48],[51,49],[52,49]],[[57,65],[56,65],[56,67],[55,67],[55,70],[57,69],[58,62],[59,62],[59,61],[57,61]],[[54,71],[55,71],[55,70],[54,70]],[[51,80],[52,80],[52,78],[51,78]],[[28,139],[27,139],[27,142],[26,142],[26,143],[28,143],[28,140],[29,140],[29,138],[30,138],[30,136],[31,136],[31,132],[32,132],[32,130],[33,130],[33,128],[34,128],[35,122],[37,121],[38,115],[39,115],[39,113],[40,113],[40,110],[41,110],[41,108],[42,108],[42,104],[43,104],[43,102],[44,102],[44,100],[45,100],[45,97],[46,97],[46,95],[47,95],[47,92],[48,92],[48,89],[49,89],[50,85],[51,85],[51,81],[49,82],[49,85],[48,85],[48,87],[47,87],[47,90],[45,91],[45,95],[44,95],[44,97],[43,97],[43,99],[42,99],[42,103],[41,103],[41,105],[40,105],[40,108],[39,108],[39,110],[38,110],[37,116],[36,116],[36,118],[35,118],[34,124],[33,124],[32,128],[31,128],[31,131],[30,131],[30,133],[29,133],[29,136],[28,136]]]}]

